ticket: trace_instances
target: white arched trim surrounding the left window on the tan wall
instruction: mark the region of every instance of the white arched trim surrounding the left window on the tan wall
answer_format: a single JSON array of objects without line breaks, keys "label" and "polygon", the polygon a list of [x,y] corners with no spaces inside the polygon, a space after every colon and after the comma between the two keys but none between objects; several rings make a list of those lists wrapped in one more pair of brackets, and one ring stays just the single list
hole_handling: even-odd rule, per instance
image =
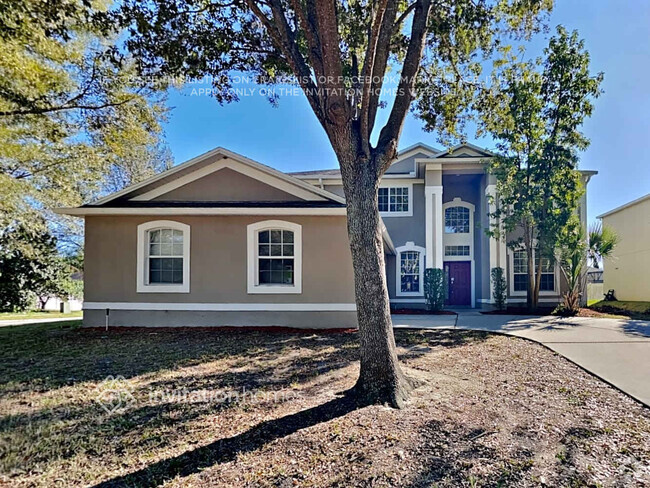
[{"label": "white arched trim surrounding the left window on the tan wall", "polygon": [[[165,228],[183,232],[183,283],[180,285],[150,284],[148,282],[149,240],[150,230]],[[137,293],[189,293],[190,292],[190,226],[173,220],[153,220],[138,225],[137,259],[136,259],[136,292]]]}]

